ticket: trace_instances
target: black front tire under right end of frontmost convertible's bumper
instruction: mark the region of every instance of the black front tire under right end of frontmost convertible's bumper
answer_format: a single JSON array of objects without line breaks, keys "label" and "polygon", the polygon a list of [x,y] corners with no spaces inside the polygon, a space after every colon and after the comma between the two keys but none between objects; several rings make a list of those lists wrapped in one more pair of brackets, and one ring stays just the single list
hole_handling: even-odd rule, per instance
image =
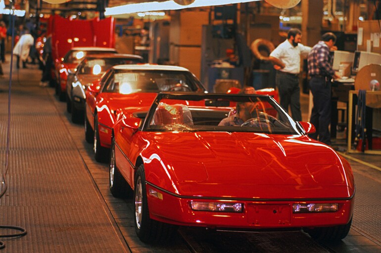
[{"label": "black front tire under right end of frontmost convertible's bumper", "polygon": [[345,225],[338,225],[334,227],[316,227],[307,229],[307,233],[315,240],[318,241],[340,241],[344,239],[349,232],[352,224],[352,218]]}]

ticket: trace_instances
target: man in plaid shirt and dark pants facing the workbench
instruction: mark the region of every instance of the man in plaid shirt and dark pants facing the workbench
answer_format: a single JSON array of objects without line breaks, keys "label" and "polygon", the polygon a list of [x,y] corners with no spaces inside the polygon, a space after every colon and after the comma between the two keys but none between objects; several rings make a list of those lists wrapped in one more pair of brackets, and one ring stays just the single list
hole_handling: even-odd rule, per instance
[{"label": "man in plaid shirt and dark pants facing the workbench", "polygon": [[328,129],[331,122],[331,79],[339,77],[331,65],[330,49],[336,49],[335,42],[336,36],[326,33],[308,54],[309,86],[314,103],[310,122],[316,128],[316,132],[309,136],[327,145],[332,144]]}]

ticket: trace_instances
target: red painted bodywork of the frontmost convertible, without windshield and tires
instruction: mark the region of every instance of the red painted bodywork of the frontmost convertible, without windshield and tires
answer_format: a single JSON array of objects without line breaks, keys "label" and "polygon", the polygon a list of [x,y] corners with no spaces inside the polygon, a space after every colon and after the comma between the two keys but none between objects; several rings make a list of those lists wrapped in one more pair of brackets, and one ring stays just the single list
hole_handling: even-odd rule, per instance
[{"label": "red painted bodywork of the frontmost convertible, without windshield and tires", "polygon": [[[211,228],[276,229],[343,225],[352,217],[352,170],[327,145],[305,135],[140,131],[123,123],[134,110],[139,109],[119,114],[113,127],[116,166],[133,188],[135,169],[143,160],[152,219]],[[150,189],[162,198],[150,195]],[[241,203],[243,211],[193,211],[191,201]],[[295,203],[338,203],[339,210],[293,214]]]}]

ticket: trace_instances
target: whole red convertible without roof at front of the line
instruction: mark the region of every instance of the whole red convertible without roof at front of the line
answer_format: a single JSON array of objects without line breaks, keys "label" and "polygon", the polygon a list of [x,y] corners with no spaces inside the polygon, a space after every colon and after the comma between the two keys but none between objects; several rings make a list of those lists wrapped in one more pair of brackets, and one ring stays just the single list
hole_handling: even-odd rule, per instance
[{"label": "whole red convertible without roof at front of the line", "polygon": [[353,174],[342,156],[307,136],[314,131],[270,96],[159,93],[151,107],[118,114],[110,191],[120,197],[133,189],[143,242],[162,242],[178,225],[303,229],[341,240],[352,221]]}]

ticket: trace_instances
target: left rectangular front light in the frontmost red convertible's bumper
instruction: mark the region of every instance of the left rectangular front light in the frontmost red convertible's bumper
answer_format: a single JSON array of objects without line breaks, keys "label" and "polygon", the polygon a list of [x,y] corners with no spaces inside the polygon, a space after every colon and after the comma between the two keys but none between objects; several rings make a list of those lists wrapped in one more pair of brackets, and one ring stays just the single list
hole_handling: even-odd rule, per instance
[{"label": "left rectangular front light in the frontmost red convertible's bumper", "polygon": [[229,213],[242,213],[242,203],[229,203],[229,202],[190,202],[191,209],[194,211],[208,211],[208,212],[229,212]]}]

